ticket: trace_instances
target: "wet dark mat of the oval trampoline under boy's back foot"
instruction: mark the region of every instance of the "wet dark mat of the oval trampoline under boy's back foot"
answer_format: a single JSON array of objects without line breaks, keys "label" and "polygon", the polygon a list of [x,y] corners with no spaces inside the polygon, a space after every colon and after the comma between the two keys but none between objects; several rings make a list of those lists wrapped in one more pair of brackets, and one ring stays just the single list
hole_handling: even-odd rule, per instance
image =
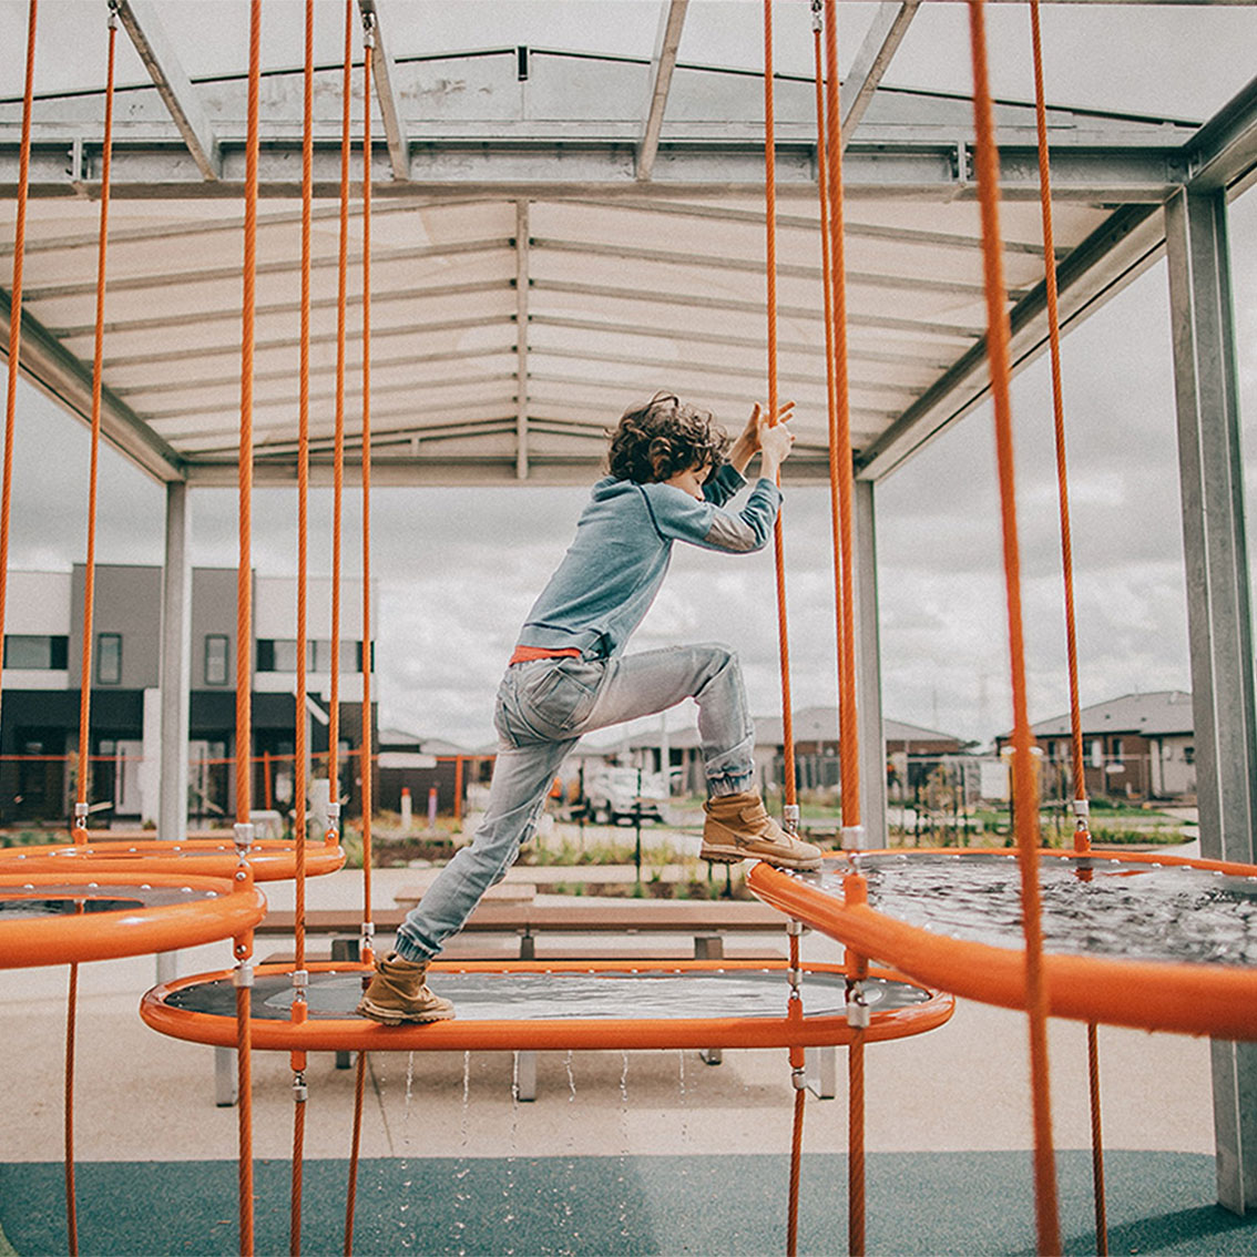
[{"label": "wet dark mat of the oval trampoline under boy's back foot", "polygon": [[[354,1017],[362,975],[362,969],[312,973],[307,991],[309,1018]],[[788,994],[781,969],[434,970],[429,982],[437,994],[454,1001],[463,1022],[779,1018]],[[846,979],[841,973],[804,969],[802,993],[804,1017],[846,1013]],[[925,1003],[930,993],[906,982],[869,978],[865,997],[876,1013]],[[250,1004],[254,1018],[287,1021],[292,1002],[290,974],[256,975]],[[230,1018],[235,1017],[235,987],[230,978],[217,978],[173,989],[165,1003],[185,1012]]]}]

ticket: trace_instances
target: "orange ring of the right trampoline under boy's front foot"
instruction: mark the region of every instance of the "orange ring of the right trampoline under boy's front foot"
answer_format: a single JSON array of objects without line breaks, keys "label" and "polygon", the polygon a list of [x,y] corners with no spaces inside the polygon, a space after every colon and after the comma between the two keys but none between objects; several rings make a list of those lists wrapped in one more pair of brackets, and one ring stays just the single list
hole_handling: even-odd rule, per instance
[{"label": "orange ring of the right trampoline under boy's front foot", "polygon": [[[911,855],[861,852],[861,855]],[[920,848],[921,855],[996,855],[1003,848]],[[1040,851],[1045,859],[1076,859],[1076,852]],[[1105,851],[1104,861],[1180,865],[1236,876],[1257,867],[1222,860],[1185,860],[1148,852]],[[840,857],[841,865],[850,865]],[[1026,1008],[1026,954],[988,943],[952,939],[906,925],[867,904],[846,905],[807,882],[757,864],[747,884],[764,903],[837,939],[861,955],[892,964],[910,979],[984,1004]],[[1209,964],[1125,960],[1046,953],[1043,974],[1048,1013],[1077,1021],[1136,1029],[1257,1040],[1257,969]]]}]

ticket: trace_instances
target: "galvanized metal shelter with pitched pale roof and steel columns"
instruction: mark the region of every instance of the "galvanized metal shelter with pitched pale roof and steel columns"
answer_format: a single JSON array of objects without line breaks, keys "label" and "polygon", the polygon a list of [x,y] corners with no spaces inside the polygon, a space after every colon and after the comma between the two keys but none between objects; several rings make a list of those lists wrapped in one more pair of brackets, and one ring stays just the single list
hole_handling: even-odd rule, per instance
[{"label": "galvanized metal shelter with pitched pale roof and steel columns", "polygon": [[[104,0],[70,3],[85,30],[103,20]],[[235,474],[245,84],[194,82],[162,5],[117,8],[151,83],[119,91],[103,430],[168,486],[162,688],[167,727],[186,734],[186,495]],[[802,4],[781,8],[807,20]],[[874,838],[884,816],[875,486],[987,392],[969,101],[882,85],[920,8],[877,8],[842,87],[862,812]],[[680,58],[688,0],[641,6],[657,21],[650,58],[532,45],[412,54],[391,38],[387,0],[358,9],[375,30],[367,107],[381,137],[371,153],[377,484],[585,483],[626,397],[664,383],[720,411],[760,391],[763,104],[744,70]],[[338,14],[327,6],[328,21]],[[21,102],[9,74],[16,54],[4,62],[9,200]],[[781,383],[799,407],[794,481],[825,478],[828,458],[812,91],[803,78],[777,82]],[[268,72],[258,483],[295,478],[300,93],[299,70]],[[361,121],[361,97],[354,108]],[[19,367],[79,417],[91,411],[102,113],[101,92],[73,91],[40,94],[34,116]],[[1006,102],[997,121],[1021,366],[1047,338],[1033,107]],[[1070,108],[1052,108],[1050,126],[1065,326],[1169,263],[1202,847],[1251,862],[1257,709],[1227,206],[1257,181],[1257,79],[1203,126]],[[356,180],[361,161],[356,148]],[[316,479],[331,475],[338,181],[339,70],[328,65],[316,91]],[[6,214],[3,331],[13,235]],[[177,737],[163,742],[163,831],[175,837],[186,825],[186,763]],[[1242,1212],[1257,1202],[1257,1053],[1218,1043],[1214,1055],[1219,1195]]]}]

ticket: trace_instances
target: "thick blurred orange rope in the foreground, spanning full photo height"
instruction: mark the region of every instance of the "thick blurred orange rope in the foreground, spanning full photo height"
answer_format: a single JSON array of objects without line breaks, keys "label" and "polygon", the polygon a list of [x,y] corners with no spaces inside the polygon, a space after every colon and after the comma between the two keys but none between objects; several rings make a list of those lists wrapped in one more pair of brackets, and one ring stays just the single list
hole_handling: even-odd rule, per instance
[{"label": "thick blurred orange rope in the foreground, spanning full photo height", "polygon": [[1021,556],[1013,466],[1012,405],[1008,380],[1008,305],[999,235],[999,165],[987,73],[983,0],[969,0],[973,49],[973,106],[977,137],[978,199],[982,209],[983,266],[987,290],[987,353],[996,414],[1004,581],[1008,596],[1008,649],[1013,699],[1013,783],[1021,867],[1022,924],[1026,934],[1026,1008],[1029,1014],[1031,1085],[1035,1125],[1035,1200],[1041,1252],[1061,1251],[1056,1158],[1047,1061],[1047,992],[1043,983],[1043,929],[1038,887],[1038,792],[1031,763],[1026,699],[1026,645],[1022,630]]}]

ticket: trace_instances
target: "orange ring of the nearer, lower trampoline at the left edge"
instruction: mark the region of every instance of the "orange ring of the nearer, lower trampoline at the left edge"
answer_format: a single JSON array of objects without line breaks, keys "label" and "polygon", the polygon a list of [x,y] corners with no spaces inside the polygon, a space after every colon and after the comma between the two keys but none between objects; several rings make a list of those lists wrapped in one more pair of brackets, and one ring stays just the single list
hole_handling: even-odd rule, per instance
[{"label": "orange ring of the nearer, lower trampoline at the left edge", "polygon": [[[266,899],[251,879],[142,876],[140,882],[134,874],[97,870],[74,880],[49,872],[0,874],[0,969],[111,960],[240,938],[266,913]],[[156,903],[145,903],[146,896]],[[93,900],[123,906],[38,914],[40,903],[68,900],[77,909]],[[30,915],[18,911],[26,904]]]}]

